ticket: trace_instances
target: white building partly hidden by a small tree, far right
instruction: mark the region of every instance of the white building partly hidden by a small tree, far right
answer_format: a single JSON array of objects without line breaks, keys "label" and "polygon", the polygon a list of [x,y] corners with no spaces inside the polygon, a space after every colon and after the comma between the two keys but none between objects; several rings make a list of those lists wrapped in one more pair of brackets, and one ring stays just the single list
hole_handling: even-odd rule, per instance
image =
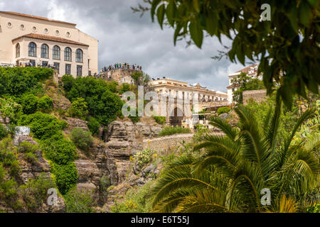
[{"label": "white building partly hidden by a small tree, far right", "polygon": [[257,75],[257,68],[258,65],[250,65],[248,67],[245,67],[242,70],[239,70],[238,72],[229,74],[229,86],[227,87],[228,89],[228,102],[230,104],[233,103],[233,92],[237,91],[238,86],[237,84],[233,84],[233,79],[235,79],[235,77],[238,77],[238,75],[240,75],[241,73],[246,73],[248,77],[252,77],[252,78],[257,78],[257,79],[262,79],[262,76],[258,76]]}]

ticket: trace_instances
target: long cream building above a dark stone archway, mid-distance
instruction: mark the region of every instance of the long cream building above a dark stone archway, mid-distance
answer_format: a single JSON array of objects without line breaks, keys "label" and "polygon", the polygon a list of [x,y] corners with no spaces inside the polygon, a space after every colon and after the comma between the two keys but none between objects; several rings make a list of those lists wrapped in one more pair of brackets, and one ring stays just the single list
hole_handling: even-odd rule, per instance
[{"label": "long cream building above a dark stone archway, mid-distance", "polygon": [[[206,106],[228,102],[227,93],[215,92],[200,84],[188,85],[187,82],[163,77],[151,80],[149,86],[159,94],[159,116],[166,116],[166,122],[171,126],[193,128],[199,123],[195,112],[206,109]],[[170,103],[169,97],[174,98],[173,103]]]}]

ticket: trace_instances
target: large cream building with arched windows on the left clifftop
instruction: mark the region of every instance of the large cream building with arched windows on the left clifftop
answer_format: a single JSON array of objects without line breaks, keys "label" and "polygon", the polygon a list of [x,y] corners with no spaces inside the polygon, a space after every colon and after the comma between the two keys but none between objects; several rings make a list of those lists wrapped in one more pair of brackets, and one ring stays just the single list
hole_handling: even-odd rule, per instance
[{"label": "large cream building with arched windows on the left clifftop", "polygon": [[55,67],[64,74],[98,73],[98,40],[75,23],[0,11],[0,64]]}]

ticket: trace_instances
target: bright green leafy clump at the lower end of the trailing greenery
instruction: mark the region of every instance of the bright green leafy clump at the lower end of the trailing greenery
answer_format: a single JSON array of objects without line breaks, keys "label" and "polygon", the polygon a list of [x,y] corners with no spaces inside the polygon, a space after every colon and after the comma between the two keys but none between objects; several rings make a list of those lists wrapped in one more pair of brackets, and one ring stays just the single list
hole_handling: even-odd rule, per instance
[{"label": "bright green leafy clump at the lower end of the trailing greenery", "polygon": [[78,181],[78,172],[75,164],[73,162],[68,163],[68,165],[53,164],[51,167],[59,192],[67,194],[70,189],[75,187]]}]

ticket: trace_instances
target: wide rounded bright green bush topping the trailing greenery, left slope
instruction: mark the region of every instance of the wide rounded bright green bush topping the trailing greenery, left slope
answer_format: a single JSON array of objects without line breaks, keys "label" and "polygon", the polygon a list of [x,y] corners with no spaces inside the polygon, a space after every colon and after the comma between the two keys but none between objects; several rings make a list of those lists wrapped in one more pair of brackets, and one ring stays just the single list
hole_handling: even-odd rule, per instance
[{"label": "wide rounded bright green bush topping the trailing greenery, left slope", "polygon": [[61,130],[67,126],[65,121],[60,121],[55,116],[41,112],[21,116],[19,124],[21,126],[30,126],[33,135],[41,140],[46,140],[53,135],[60,135],[62,137]]}]

